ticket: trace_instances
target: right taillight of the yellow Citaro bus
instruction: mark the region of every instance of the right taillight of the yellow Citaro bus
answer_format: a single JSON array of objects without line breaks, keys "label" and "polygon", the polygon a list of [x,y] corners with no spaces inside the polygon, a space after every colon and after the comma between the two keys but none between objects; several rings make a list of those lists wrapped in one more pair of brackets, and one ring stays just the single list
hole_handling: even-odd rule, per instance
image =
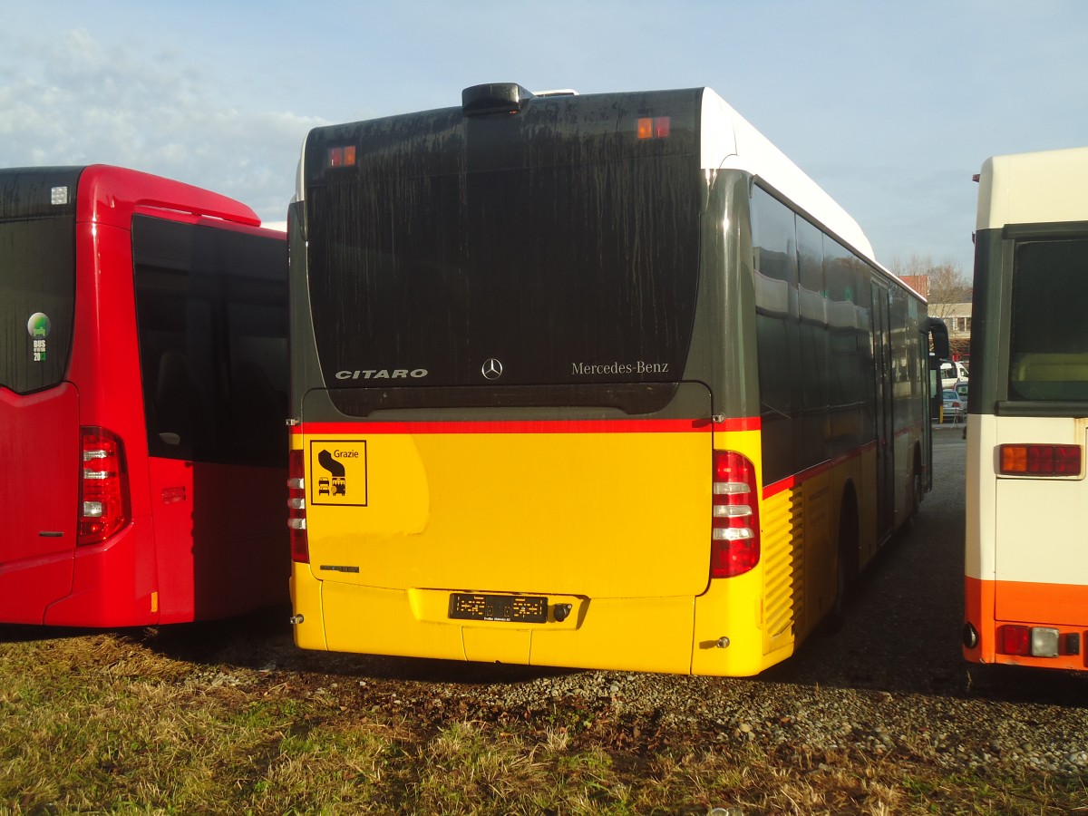
[{"label": "right taillight of the yellow Citaro bus", "polygon": [[759,562],[755,468],[732,450],[714,452],[710,578],[732,578]]}]

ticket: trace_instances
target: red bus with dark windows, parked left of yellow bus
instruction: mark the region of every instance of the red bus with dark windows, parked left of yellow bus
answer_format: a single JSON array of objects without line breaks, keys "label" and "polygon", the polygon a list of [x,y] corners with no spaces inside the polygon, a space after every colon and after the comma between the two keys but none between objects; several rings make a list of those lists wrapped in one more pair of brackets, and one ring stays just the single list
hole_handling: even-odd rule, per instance
[{"label": "red bus with dark windows, parked left of yellow bus", "polygon": [[0,170],[0,621],[287,599],[286,242],[106,165]]}]

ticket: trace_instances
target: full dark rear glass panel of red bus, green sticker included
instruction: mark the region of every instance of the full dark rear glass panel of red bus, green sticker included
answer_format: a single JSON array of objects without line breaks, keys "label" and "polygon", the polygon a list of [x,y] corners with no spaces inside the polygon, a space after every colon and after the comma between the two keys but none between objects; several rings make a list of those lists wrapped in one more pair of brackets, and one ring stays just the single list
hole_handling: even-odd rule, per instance
[{"label": "full dark rear glass panel of red bus, green sticker included", "polygon": [[78,169],[0,171],[0,385],[64,379],[75,313]]}]

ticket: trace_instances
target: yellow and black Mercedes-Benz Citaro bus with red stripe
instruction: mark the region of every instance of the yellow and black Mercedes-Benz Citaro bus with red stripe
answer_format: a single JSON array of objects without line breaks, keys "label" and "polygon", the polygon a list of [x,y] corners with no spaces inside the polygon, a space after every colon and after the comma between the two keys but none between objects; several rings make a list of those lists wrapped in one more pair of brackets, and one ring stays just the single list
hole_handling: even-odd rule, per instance
[{"label": "yellow and black Mercedes-Benz Citaro bus with red stripe", "polygon": [[288,245],[299,646],[752,675],[929,484],[925,301],[712,90],[316,128]]}]

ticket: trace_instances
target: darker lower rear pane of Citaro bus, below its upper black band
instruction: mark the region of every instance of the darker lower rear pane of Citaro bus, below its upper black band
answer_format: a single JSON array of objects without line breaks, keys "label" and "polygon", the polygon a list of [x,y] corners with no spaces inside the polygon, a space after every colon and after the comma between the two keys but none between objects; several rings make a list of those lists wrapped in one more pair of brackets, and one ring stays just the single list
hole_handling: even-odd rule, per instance
[{"label": "darker lower rear pane of Citaro bus, below its upper black band", "polygon": [[679,379],[698,202],[691,162],[671,164],[378,180],[349,205],[316,190],[325,381],[482,384],[491,359],[508,384]]}]

